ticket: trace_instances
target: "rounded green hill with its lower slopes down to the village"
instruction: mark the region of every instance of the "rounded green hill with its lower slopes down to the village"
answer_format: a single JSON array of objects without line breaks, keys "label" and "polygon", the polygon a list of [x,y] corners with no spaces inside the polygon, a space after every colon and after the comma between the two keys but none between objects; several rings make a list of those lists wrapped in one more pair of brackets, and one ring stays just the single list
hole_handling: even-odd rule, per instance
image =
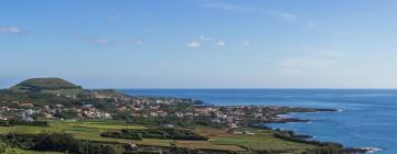
[{"label": "rounded green hill with its lower slopes down to the village", "polygon": [[[35,107],[63,105],[65,107],[83,103],[103,103],[105,98],[127,98],[116,90],[87,90],[62,78],[31,78],[9,89],[0,89],[0,105],[18,108],[18,103],[31,102]],[[2,105],[2,106],[3,106]]]}]

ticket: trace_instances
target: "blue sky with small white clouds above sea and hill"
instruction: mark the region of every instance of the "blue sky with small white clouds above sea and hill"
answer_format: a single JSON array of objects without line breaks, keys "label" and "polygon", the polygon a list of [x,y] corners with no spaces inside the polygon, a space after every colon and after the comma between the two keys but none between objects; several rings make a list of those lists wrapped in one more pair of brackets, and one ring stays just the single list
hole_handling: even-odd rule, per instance
[{"label": "blue sky with small white clouds above sea and hill", "polygon": [[396,0],[2,0],[0,88],[396,88]]}]

